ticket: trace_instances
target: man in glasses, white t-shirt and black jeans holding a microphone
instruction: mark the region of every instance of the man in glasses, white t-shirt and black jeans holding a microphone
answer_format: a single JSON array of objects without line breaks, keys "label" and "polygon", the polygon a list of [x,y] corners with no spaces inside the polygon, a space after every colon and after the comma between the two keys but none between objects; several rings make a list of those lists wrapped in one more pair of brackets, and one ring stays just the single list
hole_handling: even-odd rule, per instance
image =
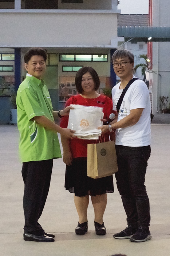
[{"label": "man in glasses, white t-shirt and black jeans holding a microphone", "polygon": [[[120,78],[120,83],[112,89],[113,110],[116,110],[123,89],[134,78],[134,55],[118,49],[112,63]],[[116,130],[118,172],[115,176],[127,215],[127,226],[113,235],[116,239],[130,238],[131,242],[151,239],[149,198],[144,185],[151,153],[150,112],[149,90],[142,80],[135,80],[124,95],[118,117],[110,125],[100,127],[102,133]]]}]

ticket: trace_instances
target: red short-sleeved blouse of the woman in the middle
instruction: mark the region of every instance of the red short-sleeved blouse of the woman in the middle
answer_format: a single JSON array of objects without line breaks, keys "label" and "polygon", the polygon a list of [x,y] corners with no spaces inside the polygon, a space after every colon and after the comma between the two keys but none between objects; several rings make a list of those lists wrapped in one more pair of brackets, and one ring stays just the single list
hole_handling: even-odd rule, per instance
[{"label": "red short-sleeved blouse of the woman in the middle", "polygon": [[[112,110],[112,100],[106,96],[100,95],[95,99],[83,98],[80,94],[73,96],[68,99],[66,106],[70,104],[78,104],[83,106],[95,106],[103,108],[104,117],[103,119],[108,119],[111,113],[116,114],[116,111]],[[60,122],[60,127],[67,128],[68,116],[62,117]],[[109,141],[109,133],[101,136],[99,140],[83,140],[83,139],[70,139],[70,150],[73,158],[77,157],[87,157],[87,144],[94,144],[104,141]]]}]

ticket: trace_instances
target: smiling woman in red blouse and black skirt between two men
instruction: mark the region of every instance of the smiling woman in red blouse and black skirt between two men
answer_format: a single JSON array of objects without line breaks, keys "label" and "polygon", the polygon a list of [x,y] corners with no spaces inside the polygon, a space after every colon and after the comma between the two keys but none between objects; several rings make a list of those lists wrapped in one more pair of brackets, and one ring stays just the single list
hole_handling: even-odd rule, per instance
[{"label": "smiling woman in red blouse and black skirt between two men", "polygon": [[[75,85],[79,95],[73,96],[66,102],[83,106],[98,106],[103,108],[104,119],[108,119],[112,110],[110,98],[96,92],[100,86],[100,79],[96,71],[91,67],[80,68],[75,77]],[[115,113],[116,114],[116,113]],[[60,123],[62,128],[67,128],[68,117],[63,117]],[[63,161],[66,163],[66,190],[74,193],[74,203],[79,215],[76,234],[87,232],[87,208],[89,195],[94,207],[94,224],[97,235],[105,235],[106,227],[103,222],[103,214],[107,204],[107,194],[113,193],[112,176],[93,179],[87,176],[87,144],[99,143],[99,140],[67,139],[61,136],[63,146]],[[109,141],[109,133],[104,135],[103,141]]]}]

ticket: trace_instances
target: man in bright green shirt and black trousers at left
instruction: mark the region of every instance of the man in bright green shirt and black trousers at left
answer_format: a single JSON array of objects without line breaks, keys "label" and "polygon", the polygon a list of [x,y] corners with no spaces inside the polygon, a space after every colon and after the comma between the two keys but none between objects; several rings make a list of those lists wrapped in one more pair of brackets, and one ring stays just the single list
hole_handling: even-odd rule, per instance
[{"label": "man in bright green shirt and black trousers at left", "polygon": [[53,111],[50,94],[41,76],[46,70],[46,51],[31,48],[24,56],[28,74],[17,91],[17,116],[20,132],[19,152],[24,180],[24,240],[53,242],[38,223],[46,203],[53,159],[61,158],[57,132],[73,139],[75,131],[63,129],[54,119],[69,114],[71,107]]}]

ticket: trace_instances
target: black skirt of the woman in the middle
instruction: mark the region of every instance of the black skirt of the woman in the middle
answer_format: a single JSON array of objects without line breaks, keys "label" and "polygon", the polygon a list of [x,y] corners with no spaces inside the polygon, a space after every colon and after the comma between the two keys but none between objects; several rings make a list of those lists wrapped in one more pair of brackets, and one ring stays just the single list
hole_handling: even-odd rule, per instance
[{"label": "black skirt of the woman in the middle", "polygon": [[66,165],[65,188],[75,196],[113,193],[113,177],[90,178],[87,176],[87,157],[74,158],[72,165]]}]

